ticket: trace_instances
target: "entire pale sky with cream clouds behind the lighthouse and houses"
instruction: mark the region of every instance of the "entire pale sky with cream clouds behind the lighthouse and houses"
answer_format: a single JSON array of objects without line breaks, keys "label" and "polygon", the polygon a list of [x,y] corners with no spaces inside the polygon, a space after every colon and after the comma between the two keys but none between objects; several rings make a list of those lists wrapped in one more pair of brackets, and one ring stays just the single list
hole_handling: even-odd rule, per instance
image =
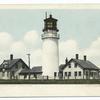
[{"label": "entire pale sky with cream clouds behind the lighthouse and houses", "polygon": [[[41,34],[45,12],[58,19],[60,34],[60,63],[65,57],[87,54],[89,60],[100,65],[100,10],[43,10],[0,9],[0,56],[7,59],[10,53],[31,63],[41,65]],[[1,60],[1,61],[2,61]]]}]

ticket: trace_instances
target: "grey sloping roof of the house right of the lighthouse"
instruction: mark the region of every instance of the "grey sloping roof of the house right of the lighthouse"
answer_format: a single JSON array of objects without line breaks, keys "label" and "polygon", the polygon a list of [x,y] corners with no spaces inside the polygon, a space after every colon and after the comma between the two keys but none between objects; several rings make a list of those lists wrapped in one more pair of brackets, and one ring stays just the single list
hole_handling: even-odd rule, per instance
[{"label": "grey sloping roof of the house right of the lighthouse", "polygon": [[94,69],[94,70],[100,70],[96,65],[94,65],[92,62],[88,60],[80,60],[80,59],[71,59],[69,62],[74,61],[77,64],[79,64],[83,69]]}]

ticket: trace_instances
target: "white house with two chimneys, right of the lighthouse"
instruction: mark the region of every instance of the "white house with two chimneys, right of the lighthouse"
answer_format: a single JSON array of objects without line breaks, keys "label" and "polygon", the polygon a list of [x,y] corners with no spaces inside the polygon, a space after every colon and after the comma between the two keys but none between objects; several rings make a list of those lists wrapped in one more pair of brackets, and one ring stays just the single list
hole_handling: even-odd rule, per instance
[{"label": "white house with two chimneys, right of the lighthouse", "polygon": [[96,65],[88,61],[86,56],[81,60],[76,54],[76,58],[65,60],[65,64],[59,66],[60,79],[99,79],[99,71]]}]

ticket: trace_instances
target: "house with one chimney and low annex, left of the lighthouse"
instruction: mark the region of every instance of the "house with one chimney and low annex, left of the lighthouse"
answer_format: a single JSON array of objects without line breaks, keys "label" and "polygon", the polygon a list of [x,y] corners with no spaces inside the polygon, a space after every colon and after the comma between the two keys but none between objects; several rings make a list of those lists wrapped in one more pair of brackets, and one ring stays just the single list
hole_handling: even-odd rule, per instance
[{"label": "house with one chimney and low annex, left of the lighthouse", "polygon": [[39,78],[41,75],[41,66],[30,69],[21,58],[13,59],[12,54],[10,59],[4,60],[0,65],[0,79],[29,79]]}]

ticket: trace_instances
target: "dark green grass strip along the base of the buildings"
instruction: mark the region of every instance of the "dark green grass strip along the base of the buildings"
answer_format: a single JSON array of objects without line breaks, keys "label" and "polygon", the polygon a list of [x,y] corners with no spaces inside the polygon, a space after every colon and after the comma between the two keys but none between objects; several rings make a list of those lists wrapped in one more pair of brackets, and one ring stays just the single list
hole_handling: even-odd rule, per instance
[{"label": "dark green grass strip along the base of the buildings", "polygon": [[0,84],[100,84],[99,79],[66,79],[66,80],[0,80]]}]

